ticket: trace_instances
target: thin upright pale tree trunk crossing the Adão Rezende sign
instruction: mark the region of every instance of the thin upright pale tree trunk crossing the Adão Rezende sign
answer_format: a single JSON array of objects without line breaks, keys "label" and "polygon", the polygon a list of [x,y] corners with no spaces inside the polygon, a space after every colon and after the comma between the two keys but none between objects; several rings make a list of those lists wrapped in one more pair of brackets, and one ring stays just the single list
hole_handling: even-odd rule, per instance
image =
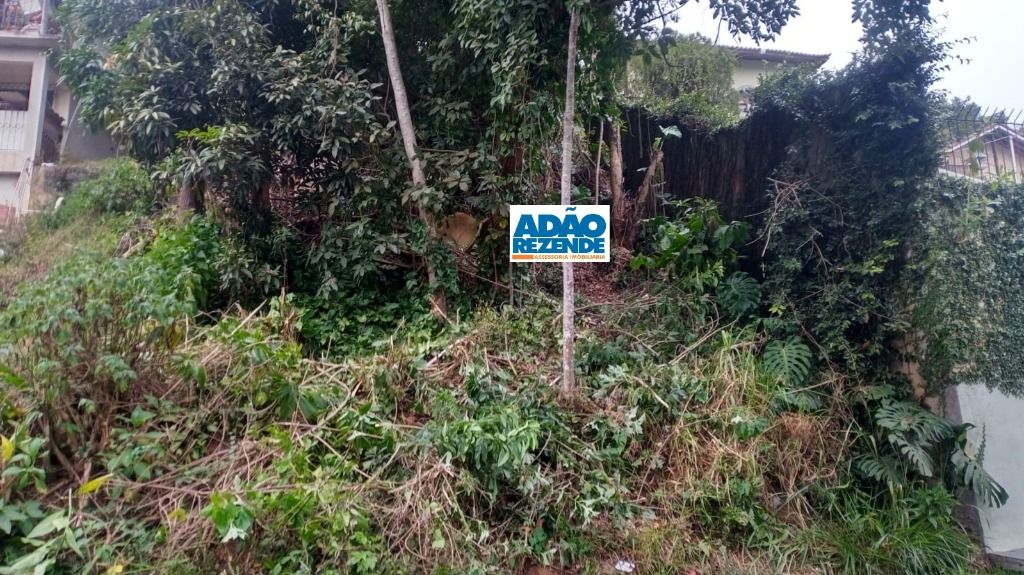
[{"label": "thin upright pale tree trunk crossing the Ad\u00e3o Rezende sign", "polygon": [[[575,58],[580,8],[569,19],[569,54],[565,65],[565,114],[562,116],[562,206],[572,204],[572,135],[575,126]],[[575,389],[575,281],[572,262],[562,262],[562,393]]]}]

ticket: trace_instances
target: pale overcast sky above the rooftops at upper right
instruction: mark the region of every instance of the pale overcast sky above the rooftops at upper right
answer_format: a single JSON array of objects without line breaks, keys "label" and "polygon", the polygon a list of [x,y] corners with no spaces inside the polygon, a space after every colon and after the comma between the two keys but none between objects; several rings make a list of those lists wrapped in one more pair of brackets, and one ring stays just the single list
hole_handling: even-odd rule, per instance
[{"label": "pale overcast sky above the rooftops at upper right", "polygon": [[[766,47],[799,52],[830,53],[827,68],[850,61],[859,46],[860,26],[850,21],[850,0],[798,0],[801,14]],[[968,63],[950,60],[939,88],[984,106],[1024,109],[1024,0],[945,0],[933,3],[932,13],[948,39],[972,38],[955,48]],[[690,3],[679,12],[675,28],[699,32],[715,39],[718,25],[707,2]],[[734,39],[722,27],[720,44],[754,46]]]}]

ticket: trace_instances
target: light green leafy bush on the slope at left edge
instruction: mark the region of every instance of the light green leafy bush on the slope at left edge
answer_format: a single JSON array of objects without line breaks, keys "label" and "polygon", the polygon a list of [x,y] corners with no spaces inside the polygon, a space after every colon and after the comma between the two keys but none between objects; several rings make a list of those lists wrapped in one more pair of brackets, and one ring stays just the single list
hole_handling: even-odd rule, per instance
[{"label": "light green leafy bush on the slope at left edge", "polygon": [[197,219],[158,232],[142,257],[80,254],[0,311],[0,365],[14,402],[42,413],[66,467],[102,449],[118,406],[153,383],[180,343],[216,284],[216,245],[215,228]]}]

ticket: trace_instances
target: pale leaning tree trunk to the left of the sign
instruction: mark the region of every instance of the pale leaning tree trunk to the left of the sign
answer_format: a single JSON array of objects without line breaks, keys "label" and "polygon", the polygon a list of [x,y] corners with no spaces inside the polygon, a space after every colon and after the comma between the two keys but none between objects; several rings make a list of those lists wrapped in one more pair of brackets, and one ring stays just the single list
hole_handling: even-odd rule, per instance
[{"label": "pale leaning tree trunk to the left of the sign", "polygon": [[[423,172],[423,164],[416,149],[416,129],[413,126],[413,114],[409,108],[409,96],[406,94],[406,82],[401,77],[401,67],[398,62],[398,48],[394,42],[394,28],[391,26],[391,11],[388,9],[387,0],[377,0],[377,11],[381,18],[381,38],[384,40],[384,54],[387,59],[387,72],[391,79],[391,89],[394,91],[394,108],[398,116],[398,129],[401,131],[401,142],[406,147],[406,157],[409,158],[409,166],[413,171],[413,185],[425,187],[427,176]],[[434,224],[434,217],[430,210],[423,206],[417,206],[416,211],[427,228],[428,244],[433,244],[437,237],[437,226]],[[427,266],[427,280],[433,288],[431,304],[434,313],[446,317],[447,304],[444,301],[444,292],[437,285],[437,271],[433,263],[430,262],[428,254],[423,254],[423,259]]]}]

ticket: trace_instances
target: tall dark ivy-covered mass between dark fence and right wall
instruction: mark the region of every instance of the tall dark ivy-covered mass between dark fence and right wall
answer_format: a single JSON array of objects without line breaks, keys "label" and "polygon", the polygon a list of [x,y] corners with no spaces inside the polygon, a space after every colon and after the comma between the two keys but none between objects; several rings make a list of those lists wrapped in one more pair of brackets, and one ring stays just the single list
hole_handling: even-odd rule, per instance
[{"label": "tall dark ivy-covered mass between dark fence and right wall", "polygon": [[[892,19],[903,8],[919,26]],[[784,112],[802,128],[769,190],[761,233],[765,290],[772,312],[790,318],[783,333],[809,339],[828,369],[853,388],[838,391],[850,394],[860,417],[854,462],[862,478],[892,489],[942,479],[997,504],[1007,493],[980,471],[980,446],[966,434],[970,426],[954,428],[922,402],[929,391],[941,392],[956,380],[958,370],[942,364],[944,346],[953,343],[948,330],[957,323],[944,313],[951,309],[943,309],[941,318],[934,315],[937,306],[951,303],[939,304],[935,293],[963,294],[973,283],[908,281],[919,266],[937,271],[935,260],[942,255],[926,246],[961,237],[953,228],[926,223],[948,215],[936,203],[932,182],[940,140],[932,117],[938,96],[930,91],[947,46],[929,32],[927,9],[903,8],[883,9],[865,21],[871,34],[865,52],[847,69],[779,75],[759,89],[758,105]],[[933,209],[938,211],[925,214]],[[922,222],[925,229],[908,222]],[[990,239],[989,249],[1002,254],[996,259],[1016,259],[1012,247]],[[1014,277],[1011,272],[986,284],[991,298],[1001,302],[1001,290]],[[915,303],[921,293],[924,299]],[[964,322],[983,321],[984,313],[964,311]],[[934,346],[928,339],[914,347],[910,341],[926,314]],[[962,354],[979,351],[977,342],[956,343]],[[898,360],[922,361],[932,388],[894,370]]]}]

